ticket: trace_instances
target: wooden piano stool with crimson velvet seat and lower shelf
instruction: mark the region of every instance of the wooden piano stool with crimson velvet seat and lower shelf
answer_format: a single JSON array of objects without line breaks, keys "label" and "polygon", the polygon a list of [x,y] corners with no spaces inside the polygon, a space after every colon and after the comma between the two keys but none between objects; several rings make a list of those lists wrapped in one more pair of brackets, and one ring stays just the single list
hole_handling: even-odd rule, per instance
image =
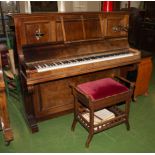
[{"label": "wooden piano stool with crimson velvet seat and lower shelf", "polygon": [[[96,133],[121,123],[126,124],[127,130],[130,129],[129,109],[134,88],[132,82],[117,76],[71,87],[74,95],[74,119],[71,130],[74,131],[79,122],[89,132],[86,147],[89,147]],[[122,108],[120,103],[125,106]],[[108,113],[108,116],[103,117],[103,111],[104,114]],[[97,113],[100,113],[100,116]]]}]

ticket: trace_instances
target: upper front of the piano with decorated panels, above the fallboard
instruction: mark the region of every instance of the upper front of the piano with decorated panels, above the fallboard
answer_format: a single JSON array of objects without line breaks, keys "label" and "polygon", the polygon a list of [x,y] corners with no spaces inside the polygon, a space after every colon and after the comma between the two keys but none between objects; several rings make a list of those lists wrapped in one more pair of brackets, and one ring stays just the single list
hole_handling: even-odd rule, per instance
[{"label": "upper front of the piano with decorated panels, above the fallboard", "polygon": [[127,37],[127,12],[34,13],[14,15],[17,51],[23,46],[52,42],[83,42]]}]

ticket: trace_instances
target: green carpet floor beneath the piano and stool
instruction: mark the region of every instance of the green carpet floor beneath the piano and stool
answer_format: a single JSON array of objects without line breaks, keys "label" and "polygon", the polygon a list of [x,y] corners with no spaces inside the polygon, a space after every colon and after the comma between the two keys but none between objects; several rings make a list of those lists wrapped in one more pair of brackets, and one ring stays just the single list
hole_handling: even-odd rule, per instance
[{"label": "green carpet floor beneath the piano and stool", "polygon": [[149,96],[140,96],[131,103],[130,131],[121,124],[94,135],[89,148],[85,148],[88,132],[77,124],[70,130],[73,114],[47,120],[39,125],[39,132],[31,134],[27,128],[15,100],[9,102],[9,115],[14,140],[4,145],[0,133],[0,152],[85,152],[85,153],[141,153],[155,152],[155,80],[149,88]]}]

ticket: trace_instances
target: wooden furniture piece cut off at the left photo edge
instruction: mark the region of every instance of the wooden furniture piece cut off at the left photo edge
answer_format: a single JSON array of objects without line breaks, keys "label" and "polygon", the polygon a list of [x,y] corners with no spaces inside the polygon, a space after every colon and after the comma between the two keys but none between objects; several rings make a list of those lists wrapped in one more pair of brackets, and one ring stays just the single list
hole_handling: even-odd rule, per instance
[{"label": "wooden furniture piece cut off at the left photo edge", "polygon": [[13,132],[10,125],[5,82],[3,79],[2,51],[4,51],[4,48],[0,46],[0,130],[3,132],[5,144],[8,145],[13,140]]}]

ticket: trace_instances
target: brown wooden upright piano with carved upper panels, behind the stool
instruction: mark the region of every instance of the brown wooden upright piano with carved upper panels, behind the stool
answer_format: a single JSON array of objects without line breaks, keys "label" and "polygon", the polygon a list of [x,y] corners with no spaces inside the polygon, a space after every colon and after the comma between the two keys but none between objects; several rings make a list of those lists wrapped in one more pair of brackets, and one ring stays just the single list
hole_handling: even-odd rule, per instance
[{"label": "brown wooden upright piano with carved upper panels, behind the stool", "polygon": [[127,12],[13,15],[25,118],[32,132],[42,120],[72,112],[70,84],[120,74],[140,51],[129,47]]}]

